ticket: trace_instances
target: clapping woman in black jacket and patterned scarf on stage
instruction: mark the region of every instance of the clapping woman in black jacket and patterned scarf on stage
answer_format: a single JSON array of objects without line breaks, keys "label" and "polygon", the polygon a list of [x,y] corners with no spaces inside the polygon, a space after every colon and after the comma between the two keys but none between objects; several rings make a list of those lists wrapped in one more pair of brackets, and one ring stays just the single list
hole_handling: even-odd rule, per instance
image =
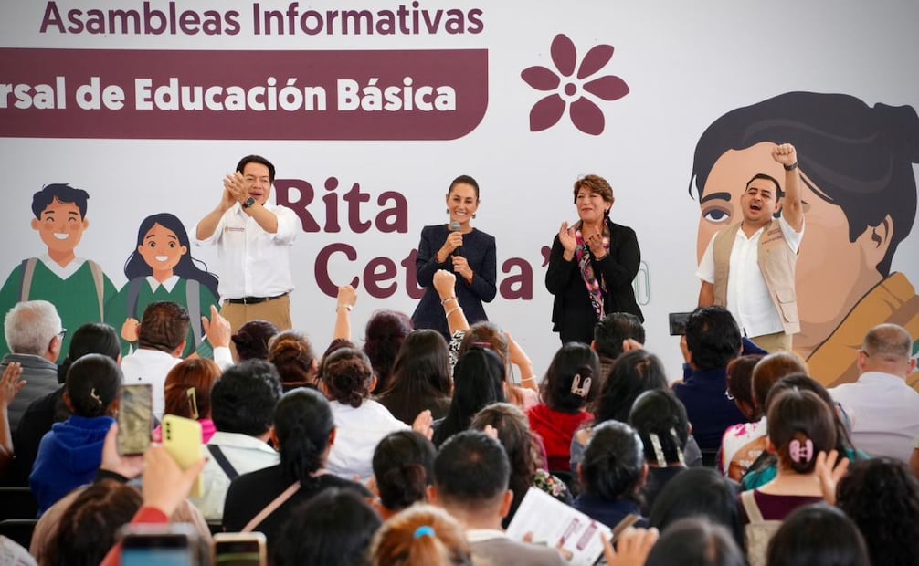
[{"label": "clapping woman in black jacket and patterned scarf on stage", "polygon": [[610,312],[630,312],[644,321],[632,279],[641,265],[635,231],[609,220],[613,188],[598,175],[574,182],[579,221],[552,242],[546,289],[552,303],[552,331],[562,344],[594,339],[594,326]]}]

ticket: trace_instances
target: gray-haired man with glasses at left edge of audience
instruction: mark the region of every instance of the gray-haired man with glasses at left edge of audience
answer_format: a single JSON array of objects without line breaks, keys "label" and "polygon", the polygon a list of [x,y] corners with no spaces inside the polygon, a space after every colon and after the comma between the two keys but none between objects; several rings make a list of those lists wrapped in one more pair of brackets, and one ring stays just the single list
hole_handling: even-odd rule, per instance
[{"label": "gray-haired man with glasses at left edge of audience", "polygon": [[0,372],[17,363],[27,381],[9,405],[10,432],[16,430],[28,403],[57,390],[57,359],[66,332],[57,309],[47,300],[18,302],[6,313],[4,335],[12,353],[3,357]]}]

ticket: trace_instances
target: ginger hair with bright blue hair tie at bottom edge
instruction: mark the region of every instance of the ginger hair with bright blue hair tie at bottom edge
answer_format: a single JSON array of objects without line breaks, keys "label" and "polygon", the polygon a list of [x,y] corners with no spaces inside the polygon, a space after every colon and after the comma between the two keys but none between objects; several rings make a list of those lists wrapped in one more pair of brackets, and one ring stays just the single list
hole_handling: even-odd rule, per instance
[{"label": "ginger hair with bright blue hair tie at bottom edge", "polygon": [[443,509],[417,504],[392,516],[370,543],[370,566],[472,566],[466,533]]}]

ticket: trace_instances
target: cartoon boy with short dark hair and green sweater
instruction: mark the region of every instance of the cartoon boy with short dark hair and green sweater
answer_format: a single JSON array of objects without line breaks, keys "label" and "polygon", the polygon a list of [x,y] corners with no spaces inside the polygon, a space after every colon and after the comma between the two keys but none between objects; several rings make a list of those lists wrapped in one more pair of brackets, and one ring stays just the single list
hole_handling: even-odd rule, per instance
[{"label": "cartoon boy with short dark hair and green sweater", "polygon": [[[32,196],[32,230],[39,232],[48,253],[16,266],[0,289],[0,312],[20,300],[47,300],[61,315],[62,330],[105,320],[105,305],[117,289],[96,262],[76,256],[76,246],[89,228],[89,194],[67,184],[46,185]],[[70,348],[64,334],[61,351]],[[0,356],[9,352],[0,333]]]}]

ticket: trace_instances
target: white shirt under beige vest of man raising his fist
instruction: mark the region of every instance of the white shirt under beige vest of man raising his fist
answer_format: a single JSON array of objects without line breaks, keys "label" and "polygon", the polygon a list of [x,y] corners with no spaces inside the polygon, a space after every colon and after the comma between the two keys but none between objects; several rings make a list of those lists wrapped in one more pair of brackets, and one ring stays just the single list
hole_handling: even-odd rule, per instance
[{"label": "white shirt under beige vest of man raising his fist", "polygon": [[[801,225],[800,232],[795,232],[784,217],[779,217],[778,225],[782,230],[782,235],[785,236],[785,242],[788,243],[791,251],[797,254],[801,239],[804,237],[804,226]],[[731,311],[734,320],[737,321],[746,336],[775,334],[784,330],[776,305],[769,297],[766,279],[763,278],[763,272],[759,268],[759,239],[765,232],[766,226],[757,230],[749,238],[743,233],[743,229],[738,230],[731,248],[727,309]],[[715,236],[712,236],[696,272],[698,278],[709,283],[715,282],[714,242]]]}]

